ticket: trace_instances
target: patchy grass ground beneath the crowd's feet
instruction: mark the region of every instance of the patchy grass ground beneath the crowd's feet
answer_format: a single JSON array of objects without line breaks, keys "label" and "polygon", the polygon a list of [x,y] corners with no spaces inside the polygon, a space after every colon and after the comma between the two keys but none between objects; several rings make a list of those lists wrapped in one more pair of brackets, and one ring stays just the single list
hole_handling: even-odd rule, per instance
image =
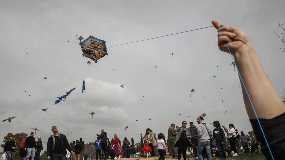
[{"label": "patchy grass ground beneath the crowd's feet", "polygon": [[[157,160],[159,156],[155,157],[139,157],[139,158],[129,158],[129,160]],[[170,160],[172,156],[166,156],[165,159]],[[183,159],[183,156],[181,157]],[[187,160],[194,160],[194,155],[187,155]],[[207,158],[206,158],[207,159]],[[213,157],[213,159],[220,159],[219,157]],[[235,160],[263,160],[266,159],[262,154],[252,154],[252,153],[239,153],[237,157],[229,156],[227,159],[235,159]]]}]

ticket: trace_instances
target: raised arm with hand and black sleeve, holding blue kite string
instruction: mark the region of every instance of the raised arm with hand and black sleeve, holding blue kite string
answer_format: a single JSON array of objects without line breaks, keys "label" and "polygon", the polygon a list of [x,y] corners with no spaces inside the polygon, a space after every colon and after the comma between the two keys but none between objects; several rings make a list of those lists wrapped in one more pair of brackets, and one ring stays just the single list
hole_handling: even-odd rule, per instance
[{"label": "raised arm with hand and black sleeve, holding blue kite string", "polygon": [[250,38],[239,28],[220,25],[215,20],[212,24],[218,30],[219,49],[230,51],[235,58],[245,108],[262,154],[266,159],[284,159],[285,132],[280,132],[285,123],[284,103],[266,76]]}]

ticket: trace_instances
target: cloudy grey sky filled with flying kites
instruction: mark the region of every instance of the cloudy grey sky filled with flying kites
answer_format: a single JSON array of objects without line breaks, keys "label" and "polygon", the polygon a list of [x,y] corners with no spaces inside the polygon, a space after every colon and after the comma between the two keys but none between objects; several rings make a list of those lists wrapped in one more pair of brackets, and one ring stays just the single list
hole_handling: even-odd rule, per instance
[{"label": "cloudy grey sky filled with flying kites", "polygon": [[[239,132],[247,133],[252,128],[238,73],[229,66],[230,55],[217,47],[215,28],[107,48],[109,55],[94,66],[92,61],[90,71],[86,61],[91,60],[82,57],[76,38],[93,35],[113,46],[211,26],[215,19],[250,36],[281,95],[285,54],[274,30],[282,33],[278,25],[285,23],[284,6],[282,0],[2,0],[0,119],[16,118],[1,122],[0,138],[8,132],[29,134],[36,127],[41,130],[37,136],[47,142],[55,125],[68,141],[94,141],[95,134],[105,129],[110,140],[117,134],[121,140],[134,138],[137,143],[146,128],[167,134],[171,123],[181,126],[186,120],[188,127],[190,121],[197,125],[202,113],[207,123],[233,123]],[[82,93],[81,82],[88,71]],[[65,101],[53,105],[56,97],[76,86]],[[48,108],[46,117],[44,108]]]}]

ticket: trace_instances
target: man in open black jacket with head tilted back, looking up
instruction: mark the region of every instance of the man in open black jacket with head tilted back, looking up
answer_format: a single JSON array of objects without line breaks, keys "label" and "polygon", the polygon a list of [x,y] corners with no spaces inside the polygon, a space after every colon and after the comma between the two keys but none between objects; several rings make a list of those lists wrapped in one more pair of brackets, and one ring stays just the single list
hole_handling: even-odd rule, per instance
[{"label": "man in open black jacket with head tilted back, looking up", "polygon": [[46,156],[48,160],[50,160],[50,157],[52,157],[52,160],[66,160],[66,149],[70,151],[71,155],[74,155],[66,136],[58,133],[56,126],[52,126],[52,132],[54,134],[48,138],[46,145]]}]

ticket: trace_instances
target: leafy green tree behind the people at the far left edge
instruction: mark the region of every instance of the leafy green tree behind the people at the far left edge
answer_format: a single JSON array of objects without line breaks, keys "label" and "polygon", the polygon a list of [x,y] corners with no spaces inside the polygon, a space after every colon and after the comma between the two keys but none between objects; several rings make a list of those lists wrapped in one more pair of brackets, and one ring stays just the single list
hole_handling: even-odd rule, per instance
[{"label": "leafy green tree behind the people at the far left edge", "polygon": [[11,132],[7,133],[7,136],[4,137],[4,144],[1,144],[1,147],[4,148],[6,141],[9,140],[9,137],[12,136],[13,137],[13,141],[15,141],[15,152],[14,152],[14,159],[21,159],[19,152],[20,152],[20,145],[21,145],[21,141],[23,140],[23,138],[27,138],[28,134],[22,132],[22,133],[16,133],[16,134],[12,134]]}]

